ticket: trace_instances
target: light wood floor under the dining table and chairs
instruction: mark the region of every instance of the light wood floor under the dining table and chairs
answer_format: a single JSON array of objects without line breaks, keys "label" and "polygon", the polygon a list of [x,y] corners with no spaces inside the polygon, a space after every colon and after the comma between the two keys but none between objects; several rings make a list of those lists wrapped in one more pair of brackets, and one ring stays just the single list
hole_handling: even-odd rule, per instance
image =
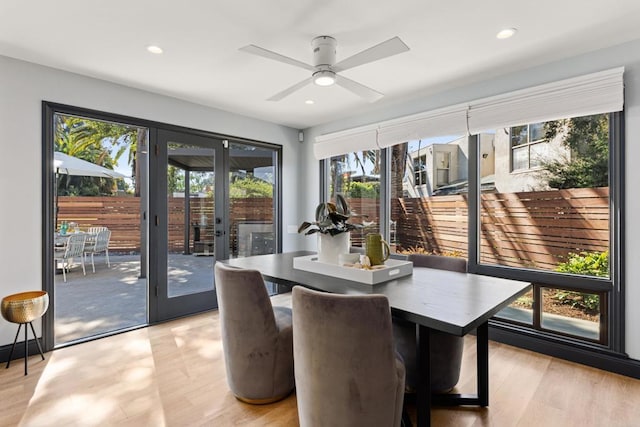
[{"label": "light wood floor under the dining table and chairs", "polygon": [[[229,392],[219,327],[206,313],[34,356],[27,377],[21,360],[2,366],[0,425],[296,426],[295,395],[252,406]],[[474,340],[462,392],[475,390]],[[435,409],[432,425],[640,426],[640,381],[491,343],[490,404]]]}]

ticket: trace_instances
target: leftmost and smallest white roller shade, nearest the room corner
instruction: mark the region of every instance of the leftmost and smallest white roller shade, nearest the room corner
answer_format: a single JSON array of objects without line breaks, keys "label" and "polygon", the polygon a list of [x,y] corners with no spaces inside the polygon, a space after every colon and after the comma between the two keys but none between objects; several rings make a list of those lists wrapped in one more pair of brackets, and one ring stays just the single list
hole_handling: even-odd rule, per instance
[{"label": "leftmost and smallest white roller shade, nearest the room corner", "polygon": [[313,144],[313,154],[321,160],[355,151],[377,150],[377,128],[372,125],[320,135]]}]

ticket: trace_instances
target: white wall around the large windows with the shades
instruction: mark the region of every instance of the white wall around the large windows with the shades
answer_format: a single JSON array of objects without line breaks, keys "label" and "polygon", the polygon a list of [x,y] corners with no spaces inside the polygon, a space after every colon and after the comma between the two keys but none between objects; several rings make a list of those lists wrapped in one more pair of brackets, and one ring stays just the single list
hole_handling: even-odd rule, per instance
[{"label": "white wall around the large windows with the shades", "polygon": [[[452,89],[438,94],[416,94],[410,100],[397,102],[393,105],[381,104],[371,113],[349,117],[344,120],[328,123],[306,130],[309,141],[315,136],[329,132],[349,129],[389,120],[409,114],[428,111],[438,107],[454,105],[486,96],[497,95],[512,90],[535,86],[542,83],[557,81],[582,74],[601,71],[608,68],[625,67],[625,139],[626,139],[626,214],[627,223],[623,230],[626,238],[626,351],[633,359],[640,360],[640,333],[636,325],[640,324],[640,270],[633,268],[635,261],[640,259],[640,222],[634,221],[640,212],[640,192],[637,183],[640,182],[640,40],[625,43],[608,49],[603,49],[570,58],[541,67],[507,74],[481,83]],[[318,188],[317,168],[312,167],[317,161],[313,157],[311,144],[307,144],[306,158],[310,167],[307,168],[308,181],[312,183],[310,189]],[[311,197],[311,194],[314,194]],[[315,193],[305,199],[303,212],[309,216],[317,202]],[[307,243],[313,247],[313,243]]]}]

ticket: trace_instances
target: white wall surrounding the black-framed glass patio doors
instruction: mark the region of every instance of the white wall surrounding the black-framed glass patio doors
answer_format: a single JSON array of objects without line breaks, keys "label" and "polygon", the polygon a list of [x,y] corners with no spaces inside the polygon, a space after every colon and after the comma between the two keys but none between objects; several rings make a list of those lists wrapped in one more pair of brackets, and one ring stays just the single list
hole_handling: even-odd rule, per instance
[{"label": "white wall surrounding the black-framed glass patio doors", "polygon": [[[302,172],[298,131],[175,98],[0,56],[0,294],[42,289],[42,101],[165,122],[283,146],[284,250],[297,237],[296,178]],[[304,184],[304,180],[302,181]],[[0,321],[0,345],[15,325]]]}]

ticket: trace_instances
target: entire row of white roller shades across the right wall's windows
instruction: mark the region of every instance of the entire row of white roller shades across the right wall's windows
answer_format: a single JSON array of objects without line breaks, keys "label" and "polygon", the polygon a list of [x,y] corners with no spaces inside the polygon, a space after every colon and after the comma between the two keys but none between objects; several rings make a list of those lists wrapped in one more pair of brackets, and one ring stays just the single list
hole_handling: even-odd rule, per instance
[{"label": "entire row of white roller shades across the right wall's windows", "polygon": [[622,111],[624,67],[321,135],[317,159],[445,135]]}]

